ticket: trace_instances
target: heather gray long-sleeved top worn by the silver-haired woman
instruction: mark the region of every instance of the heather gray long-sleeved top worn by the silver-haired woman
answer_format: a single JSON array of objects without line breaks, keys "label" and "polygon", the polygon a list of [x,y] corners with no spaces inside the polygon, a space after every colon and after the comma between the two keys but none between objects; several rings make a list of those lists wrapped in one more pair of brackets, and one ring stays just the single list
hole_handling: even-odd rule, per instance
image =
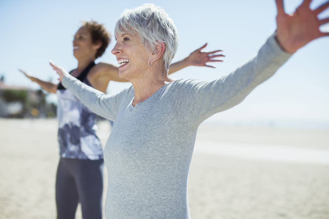
[{"label": "heather gray long-sleeved top worn by the silver-haired woman", "polygon": [[115,120],[104,148],[106,218],[190,218],[187,178],[199,124],[239,104],[289,57],[272,35],[230,75],[211,82],[175,80],[135,107],[133,87],[110,96],[64,77],[63,85],[93,112]]}]

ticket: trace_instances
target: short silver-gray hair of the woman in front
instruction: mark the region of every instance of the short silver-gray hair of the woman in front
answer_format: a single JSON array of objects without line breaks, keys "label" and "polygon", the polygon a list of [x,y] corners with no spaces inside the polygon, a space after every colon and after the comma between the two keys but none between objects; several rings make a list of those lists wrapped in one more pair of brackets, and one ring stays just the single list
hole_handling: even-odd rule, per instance
[{"label": "short silver-gray hair of the woman in front", "polygon": [[174,22],[161,7],[147,3],[126,9],[116,21],[114,34],[117,33],[138,36],[144,47],[152,52],[158,42],[164,42],[164,67],[169,70],[178,47],[178,33]]}]

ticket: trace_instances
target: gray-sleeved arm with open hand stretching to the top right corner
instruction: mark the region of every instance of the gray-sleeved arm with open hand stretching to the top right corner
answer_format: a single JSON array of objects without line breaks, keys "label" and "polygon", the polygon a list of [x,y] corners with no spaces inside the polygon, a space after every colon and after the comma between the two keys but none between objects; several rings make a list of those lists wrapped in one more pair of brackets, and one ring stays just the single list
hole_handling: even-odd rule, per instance
[{"label": "gray-sleeved arm with open hand stretching to the top right corner", "polygon": [[186,106],[193,106],[187,107],[189,112],[184,112],[182,117],[190,114],[186,118],[195,125],[217,112],[232,108],[271,77],[291,54],[313,39],[328,36],[329,33],[320,32],[319,27],[328,23],[329,18],[319,20],[317,15],[329,7],[329,2],[315,10],[310,9],[310,3],[311,0],[304,0],[293,14],[288,15],[284,12],[282,0],[276,0],[277,33],[268,38],[256,57],[231,74],[212,82],[191,81],[189,93],[177,92],[184,95]]}]

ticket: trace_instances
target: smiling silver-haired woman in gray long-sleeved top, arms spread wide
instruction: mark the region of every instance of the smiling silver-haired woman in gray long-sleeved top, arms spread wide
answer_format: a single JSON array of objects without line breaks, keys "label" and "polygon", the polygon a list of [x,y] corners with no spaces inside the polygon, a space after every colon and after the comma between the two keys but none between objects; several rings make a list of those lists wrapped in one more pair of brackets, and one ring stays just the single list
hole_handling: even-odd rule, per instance
[{"label": "smiling silver-haired woman in gray long-sleeved top, arms spread wide", "polygon": [[[190,218],[187,178],[199,124],[239,104],[296,50],[320,36],[316,10],[304,1],[294,14],[276,0],[277,31],[258,54],[231,74],[205,82],[167,76],[177,31],[163,9],[144,4],[125,11],[115,26],[119,76],[132,87],[109,96],[51,63],[62,80],[95,113],[115,120],[104,149],[108,171],[106,218]],[[307,22],[305,22],[307,21]]]}]

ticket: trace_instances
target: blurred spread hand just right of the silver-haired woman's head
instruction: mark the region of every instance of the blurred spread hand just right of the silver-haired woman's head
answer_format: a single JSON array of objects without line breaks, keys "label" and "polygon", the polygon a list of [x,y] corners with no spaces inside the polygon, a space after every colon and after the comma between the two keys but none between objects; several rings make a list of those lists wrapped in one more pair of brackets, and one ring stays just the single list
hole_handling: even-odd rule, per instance
[{"label": "blurred spread hand just right of the silver-haired woman's head", "polygon": [[215,54],[218,52],[222,52],[222,50],[215,50],[212,52],[201,52],[202,49],[204,49],[207,46],[207,43],[203,46],[201,46],[199,49],[193,51],[188,57],[188,63],[189,65],[194,66],[206,66],[210,68],[215,68],[214,66],[207,65],[207,62],[222,62],[223,60],[214,59],[216,57],[224,57],[225,55],[221,54]]}]

